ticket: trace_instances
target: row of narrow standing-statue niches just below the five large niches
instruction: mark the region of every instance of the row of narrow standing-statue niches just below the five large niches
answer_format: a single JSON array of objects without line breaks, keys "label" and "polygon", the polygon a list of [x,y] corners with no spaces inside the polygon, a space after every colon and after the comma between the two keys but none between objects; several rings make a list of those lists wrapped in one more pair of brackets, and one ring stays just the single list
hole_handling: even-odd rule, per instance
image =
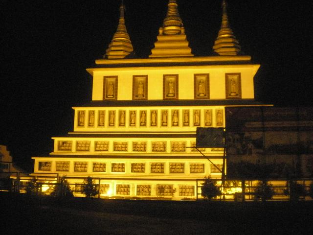
[{"label": "row of narrow standing-statue niches just below the five large niches", "polygon": [[[109,111],[109,126],[115,126],[115,110]],[[194,126],[200,126],[201,120],[201,111],[200,110],[194,110],[193,114],[193,125]],[[94,117],[95,112],[89,111],[89,121],[88,126],[93,127],[94,126]],[[146,118],[147,114],[146,111],[141,110],[140,111],[140,126],[146,126]],[[104,126],[105,122],[105,111],[99,111],[99,121],[98,126]],[[183,126],[189,126],[189,110],[183,111]],[[172,118],[171,118],[172,126],[179,126],[179,110],[174,110],[172,112]],[[119,126],[125,126],[126,125],[126,113],[124,110],[121,110],[119,112],[119,119],[118,119],[118,125]],[[151,126],[157,126],[157,111],[152,110],[150,114],[150,125]],[[211,126],[212,125],[212,110],[205,110],[204,114],[204,125],[205,126]],[[216,112],[216,125],[223,125],[223,111],[217,110]],[[85,111],[78,111],[78,126],[85,126]],[[129,126],[136,126],[136,111],[130,111],[130,117],[129,117]],[[161,111],[161,126],[168,126],[168,110],[162,110]]]}]

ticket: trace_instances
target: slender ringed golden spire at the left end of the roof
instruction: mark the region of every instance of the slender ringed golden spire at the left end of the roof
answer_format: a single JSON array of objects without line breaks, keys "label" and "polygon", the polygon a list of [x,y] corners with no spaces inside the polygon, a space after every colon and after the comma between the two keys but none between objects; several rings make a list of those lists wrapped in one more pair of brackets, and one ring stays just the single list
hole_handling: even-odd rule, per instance
[{"label": "slender ringed golden spire at the left end of the roof", "polygon": [[125,5],[123,0],[121,6],[119,7],[119,12],[119,22],[116,32],[114,33],[109,48],[106,50],[106,54],[104,55],[104,57],[108,59],[123,59],[133,51],[133,45],[125,25]]}]

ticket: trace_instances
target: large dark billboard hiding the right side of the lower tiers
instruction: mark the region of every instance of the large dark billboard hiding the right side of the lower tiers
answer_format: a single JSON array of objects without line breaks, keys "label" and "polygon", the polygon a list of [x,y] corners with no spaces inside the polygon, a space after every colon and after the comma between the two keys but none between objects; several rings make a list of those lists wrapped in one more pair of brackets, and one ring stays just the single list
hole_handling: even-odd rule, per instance
[{"label": "large dark billboard hiding the right side of the lower tiers", "polygon": [[268,177],[310,176],[313,108],[226,107],[225,118],[227,175],[248,163],[270,166]]}]

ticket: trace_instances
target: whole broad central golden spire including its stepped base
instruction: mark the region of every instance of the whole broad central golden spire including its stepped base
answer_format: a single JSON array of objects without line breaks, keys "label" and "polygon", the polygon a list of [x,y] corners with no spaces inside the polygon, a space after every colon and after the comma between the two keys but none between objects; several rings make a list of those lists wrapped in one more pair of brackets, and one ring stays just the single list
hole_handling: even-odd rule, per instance
[{"label": "whole broad central golden spire including its stepped base", "polygon": [[167,6],[163,27],[158,30],[157,41],[149,57],[193,56],[179,16],[177,1],[169,0]]}]

